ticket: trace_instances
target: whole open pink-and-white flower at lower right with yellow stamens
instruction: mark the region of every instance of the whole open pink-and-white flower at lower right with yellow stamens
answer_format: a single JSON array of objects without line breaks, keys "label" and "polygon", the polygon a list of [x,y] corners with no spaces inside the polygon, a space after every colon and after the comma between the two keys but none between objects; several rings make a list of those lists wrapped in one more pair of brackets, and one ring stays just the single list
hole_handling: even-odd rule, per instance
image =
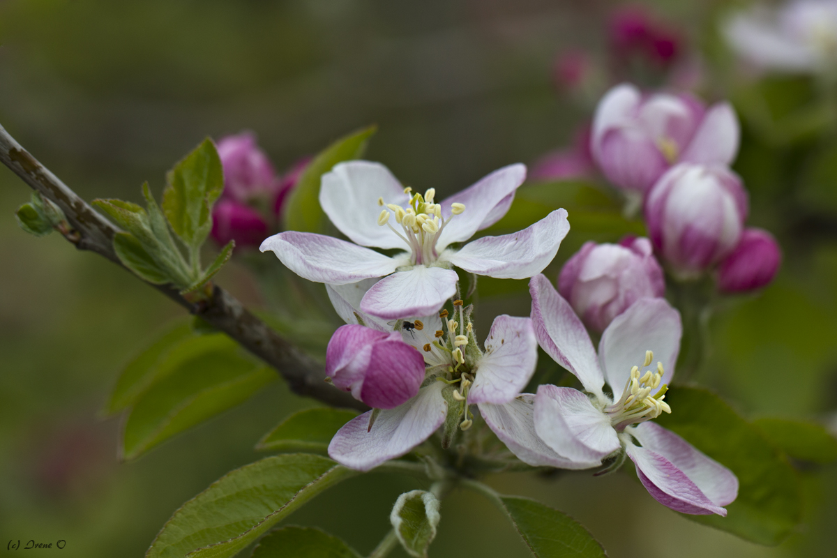
[{"label": "whole open pink-and-white flower at lower right with yellow stamens", "polygon": [[[732,471],[647,422],[671,411],[663,399],[680,350],[677,310],[665,299],[639,300],[604,330],[597,355],[581,320],[545,276],[533,277],[529,288],[538,344],[578,377],[584,392],[538,387],[531,411],[510,421],[516,428],[511,436],[526,443],[509,448],[531,465],[561,458],[574,468],[626,455],[660,504],[686,514],[726,515],[723,506],[738,491]],[[657,365],[644,371],[655,355]],[[614,397],[603,392],[605,381]]]}]

